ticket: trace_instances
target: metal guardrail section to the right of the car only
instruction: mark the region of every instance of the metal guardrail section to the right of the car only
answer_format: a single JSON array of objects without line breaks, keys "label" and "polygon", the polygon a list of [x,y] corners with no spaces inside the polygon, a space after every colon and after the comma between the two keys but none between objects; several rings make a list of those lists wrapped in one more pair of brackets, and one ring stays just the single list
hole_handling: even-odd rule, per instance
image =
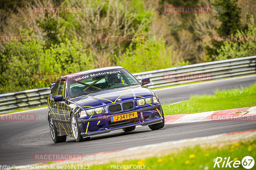
[{"label": "metal guardrail section to the right of the car only", "polygon": [[[214,80],[255,74],[255,63],[256,56],[251,56],[165,68],[142,73],[134,73],[133,75],[138,80],[149,77],[151,82],[147,84],[147,87],[159,88],[202,80]],[[200,78],[199,76],[202,77]]]}]

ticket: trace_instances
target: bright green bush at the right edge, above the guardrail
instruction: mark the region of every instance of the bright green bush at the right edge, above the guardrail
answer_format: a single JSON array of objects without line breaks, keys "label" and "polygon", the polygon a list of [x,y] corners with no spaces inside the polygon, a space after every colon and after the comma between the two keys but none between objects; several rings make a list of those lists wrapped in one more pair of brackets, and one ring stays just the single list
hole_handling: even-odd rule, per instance
[{"label": "bright green bush at the right edge, above the guardrail", "polygon": [[[255,38],[256,27],[254,25],[253,16],[251,17],[251,24],[249,24],[248,31],[237,31],[236,35],[252,35]],[[251,40],[254,40],[251,41]],[[249,39],[249,42],[224,42],[220,49],[217,50],[219,55],[216,60],[227,60],[239,57],[247,57],[256,54],[256,42],[255,39]]]}]

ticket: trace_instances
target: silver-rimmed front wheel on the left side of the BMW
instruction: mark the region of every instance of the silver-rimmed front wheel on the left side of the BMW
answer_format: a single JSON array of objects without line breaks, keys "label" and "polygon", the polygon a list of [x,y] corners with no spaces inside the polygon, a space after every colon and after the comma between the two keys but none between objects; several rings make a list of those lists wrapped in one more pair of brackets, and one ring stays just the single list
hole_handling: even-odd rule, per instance
[{"label": "silver-rimmed front wheel on the left side of the BMW", "polygon": [[76,142],[84,142],[90,140],[90,137],[83,138],[81,136],[81,131],[78,125],[78,121],[74,113],[71,114],[71,128],[73,131],[73,136],[76,139]]}]

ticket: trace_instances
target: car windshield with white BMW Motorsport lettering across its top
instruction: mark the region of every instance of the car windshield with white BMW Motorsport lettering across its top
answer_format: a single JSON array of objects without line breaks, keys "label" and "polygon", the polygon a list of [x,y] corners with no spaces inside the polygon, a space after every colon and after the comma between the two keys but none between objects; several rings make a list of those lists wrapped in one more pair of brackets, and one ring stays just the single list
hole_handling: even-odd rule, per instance
[{"label": "car windshield with white BMW Motorsport lettering across its top", "polygon": [[69,96],[77,96],[116,87],[140,85],[125,69],[77,74],[68,79]]}]

